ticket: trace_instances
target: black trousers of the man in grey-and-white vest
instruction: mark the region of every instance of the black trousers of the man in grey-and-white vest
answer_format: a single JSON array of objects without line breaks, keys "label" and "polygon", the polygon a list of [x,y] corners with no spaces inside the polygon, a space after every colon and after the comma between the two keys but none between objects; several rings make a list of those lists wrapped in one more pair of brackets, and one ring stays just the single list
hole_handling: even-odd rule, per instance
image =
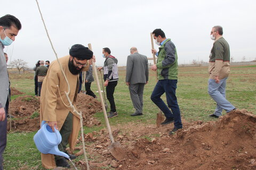
[{"label": "black trousers of the man in grey-and-white vest", "polygon": [[114,99],[115,87],[117,85],[117,81],[108,82],[108,86],[106,87],[107,99],[110,103],[110,111],[116,112],[116,105]]}]

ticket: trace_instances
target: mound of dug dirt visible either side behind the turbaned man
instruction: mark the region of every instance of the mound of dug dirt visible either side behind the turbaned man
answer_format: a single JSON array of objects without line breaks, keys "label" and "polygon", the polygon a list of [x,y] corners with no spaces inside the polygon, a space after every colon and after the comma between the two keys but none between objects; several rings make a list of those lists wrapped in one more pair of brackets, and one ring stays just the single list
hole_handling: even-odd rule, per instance
[{"label": "mound of dug dirt visible either side behind the turbaned man", "polygon": [[[21,96],[11,101],[9,113],[14,116],[11,120],[12,131],[36,131],[40,128],[39,100],[40,97]],[[78,94],[77,108],[78,112],[82,112],[84,126],[91,127],[101,123],[93,117],[95,112],[101,111],[98,100],[85,94]],[[7,130],[10,130],[10,121]]]}]

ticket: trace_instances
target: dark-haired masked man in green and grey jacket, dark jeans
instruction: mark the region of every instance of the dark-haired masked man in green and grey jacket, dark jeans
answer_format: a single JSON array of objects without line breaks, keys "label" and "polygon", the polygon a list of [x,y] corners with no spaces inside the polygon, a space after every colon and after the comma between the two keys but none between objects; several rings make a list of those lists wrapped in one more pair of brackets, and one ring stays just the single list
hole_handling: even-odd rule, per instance
[{"label": "dark-haired masked man in green and grey jacket, dark jeans", "polygon": [[[155,29],[153,37],[155,43],[160,47],[158,53],[155,49],[151,50],[153,54],[157,55],[157,64],[154,64],[151,70],[157,71],[158,75],[158,82],[151,94],[151,100],[166,117],[165,121],[161,123],[162,125],[174,122],[174,128],[169,132],[172,135],[182,128],[180,108],[175,95],[178,82],[178,55],[171,39],[166,39],[164,31]],[[164,92],[168,106],[161,99]]]}]

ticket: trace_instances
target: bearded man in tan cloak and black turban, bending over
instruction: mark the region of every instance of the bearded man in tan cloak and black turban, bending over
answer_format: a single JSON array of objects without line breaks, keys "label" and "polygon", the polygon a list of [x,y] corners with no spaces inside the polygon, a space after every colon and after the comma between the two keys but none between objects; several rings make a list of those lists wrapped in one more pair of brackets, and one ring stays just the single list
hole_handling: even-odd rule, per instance
[{"label": "bearded man in tan cloak and black turban, bending over", "polygon": [[[63,71],[66,74],[70,85],[69,98],[75,105],[79,88],[78,75],[81,71],[87,71],[93,52],[83,45],[73,45],[69,50],[69,55],[59,59]],[[46,121],[54,131],[54,126],[60,131],[62,141],[58,146],[60,151],[66,152],[66,145],[69,143],[71,150],[76,145],[76,140],[80,130],[79,116],[69,107],[68,99],[65,95],[68,92],[68,84],[61,72],[58,61],[53,61],[44,79],[40,98],[40,120]],[[67,153],[67,152],[66,152]],[[75,158],[69,155],[70,158]],[[51,154],[41,154],[42,165],[46,169],[56,166],[70,167],[64,157]]]}]

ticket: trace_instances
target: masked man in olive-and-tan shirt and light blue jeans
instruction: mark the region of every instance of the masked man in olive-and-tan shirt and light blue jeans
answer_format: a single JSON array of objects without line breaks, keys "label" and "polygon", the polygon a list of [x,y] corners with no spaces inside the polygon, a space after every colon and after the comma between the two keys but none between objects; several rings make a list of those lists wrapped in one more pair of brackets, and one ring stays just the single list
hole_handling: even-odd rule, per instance
[{"label": "masked man in olive-and-tan shirt and light blue jeans", "polygon": [[219,118],[224,109],[227,113],[236,109],[226,99],[226,81],[230,72],[230,52],[228,42],[222,37],[222,27],[214,26],[210,37],[214,40],[209,60],[208,93],[217,103],[210,117]]}]

